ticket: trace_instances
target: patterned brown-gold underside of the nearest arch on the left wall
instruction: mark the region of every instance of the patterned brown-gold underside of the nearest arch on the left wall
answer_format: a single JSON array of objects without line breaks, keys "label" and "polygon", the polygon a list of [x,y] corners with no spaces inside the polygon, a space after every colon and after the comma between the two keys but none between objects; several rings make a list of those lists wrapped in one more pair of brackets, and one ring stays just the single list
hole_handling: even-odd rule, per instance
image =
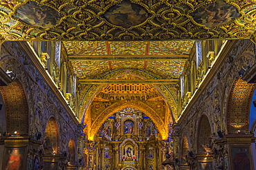
[{"label": "patterned brown-gold underside of the nearest arch on the left wall", "polygon": [[6,108],[6,133],[28,134],[28,103],[23,86],[15,80],[1,86],[0,92]]}]

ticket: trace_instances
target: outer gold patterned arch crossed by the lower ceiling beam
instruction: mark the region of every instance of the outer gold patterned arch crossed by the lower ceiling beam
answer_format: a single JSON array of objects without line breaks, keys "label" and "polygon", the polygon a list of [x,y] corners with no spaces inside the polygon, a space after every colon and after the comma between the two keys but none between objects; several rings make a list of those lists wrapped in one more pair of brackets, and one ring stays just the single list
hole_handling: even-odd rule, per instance
[{"label": "outer gold patterned arch crossed by the lower ceiling beam", "polygon": [[[117,76],[121,76],[124,74],[127,74],[127,70],[129,70],[129,74],[133,74],[134,76],[138,76],[142,79],[161,79],[161,76],[158,76],[152,72],[146,72],[145,70],[138,70],[134,68],[129,69],[120,69],[120,70],[113,70],[113,72],[109,72],[108,74],[99,75],[97,78],[99,79],[113,79]],[[83,94],[80,100],[80,120],[81,122],[84,119],[84,114],[86,113],[86,108],[89,107],[89,105],[92,102],[92,99],[105,85],[87,85],[82,89],[81,94]],[[170,106],[170,109],[172,111],[174,120],[177,122],[179,116],[177,114],[177,99],[172,94],[170,88],[167,85],[154,85],[155,89],[157,89],[158,92],[160,92],[163,97],[166,100],[167,105]]]}]

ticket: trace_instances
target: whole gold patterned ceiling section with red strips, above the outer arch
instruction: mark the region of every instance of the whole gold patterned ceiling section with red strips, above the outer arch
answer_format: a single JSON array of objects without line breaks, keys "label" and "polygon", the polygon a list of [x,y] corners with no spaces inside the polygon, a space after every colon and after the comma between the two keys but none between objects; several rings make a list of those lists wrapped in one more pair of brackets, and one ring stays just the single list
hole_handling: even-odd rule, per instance
[{"label": "whole gold patterned ceiling section with red strips, above the outer arch", "polygon": [[[182,74],[194,41],[64,41],[63,44],[78,78],[93,79],[111,70],[137,68],[170,79]],[[86,56],[91,57],[91,61]],[[100,59],[95,61],[93,56]],[[115,56],[130,58],[111,59]],[[161,56],[170,56],[170,59],[161,60]]]}]

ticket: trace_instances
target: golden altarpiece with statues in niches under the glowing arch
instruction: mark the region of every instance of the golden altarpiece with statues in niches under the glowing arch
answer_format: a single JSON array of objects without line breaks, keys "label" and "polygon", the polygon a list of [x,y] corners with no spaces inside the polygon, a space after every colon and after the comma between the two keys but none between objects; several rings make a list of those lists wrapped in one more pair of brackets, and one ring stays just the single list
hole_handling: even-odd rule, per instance
[{"label": "golden altarpiece with statues in niches under the glowing arch", "polygon": [[155,169],[167,150],[172,151],[158,135],[149,116],[127,107],[104,121],[95,135],[96,145],[90,148],[88,142],[84,157],[89,167],[98,164],[98,169]]}]

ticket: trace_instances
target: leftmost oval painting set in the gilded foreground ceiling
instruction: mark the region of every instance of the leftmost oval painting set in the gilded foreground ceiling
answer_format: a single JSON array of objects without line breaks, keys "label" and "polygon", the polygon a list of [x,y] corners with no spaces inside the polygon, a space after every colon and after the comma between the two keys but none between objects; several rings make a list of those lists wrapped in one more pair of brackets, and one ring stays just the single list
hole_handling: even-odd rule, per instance
[{"label": "leftmost oval painting set in the gilded foreground ceiling", "polygon": [[41,5],[35,1],[28,1],[23,6],[20,6],[13,15],[15,19],[39,28],[52,28],[63,17],[57,10]]}]

